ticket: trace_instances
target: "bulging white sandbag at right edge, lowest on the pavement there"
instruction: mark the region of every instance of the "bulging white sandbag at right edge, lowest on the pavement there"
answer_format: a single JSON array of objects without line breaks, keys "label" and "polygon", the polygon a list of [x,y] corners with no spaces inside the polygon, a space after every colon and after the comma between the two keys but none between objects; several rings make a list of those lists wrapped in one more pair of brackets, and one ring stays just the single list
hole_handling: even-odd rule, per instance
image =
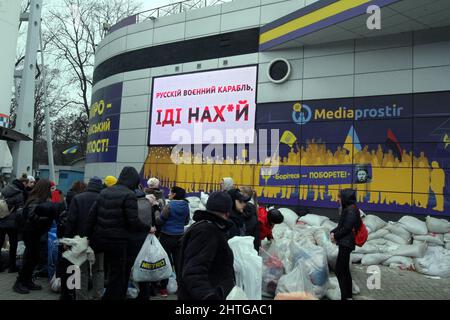
[{"label": "bulging white sandbag at right edge, lowest on the pavement there", "polygon": [[423,258],[414,259],[416,271],[429,276],[450,277],[450,251],[429,247]]}]

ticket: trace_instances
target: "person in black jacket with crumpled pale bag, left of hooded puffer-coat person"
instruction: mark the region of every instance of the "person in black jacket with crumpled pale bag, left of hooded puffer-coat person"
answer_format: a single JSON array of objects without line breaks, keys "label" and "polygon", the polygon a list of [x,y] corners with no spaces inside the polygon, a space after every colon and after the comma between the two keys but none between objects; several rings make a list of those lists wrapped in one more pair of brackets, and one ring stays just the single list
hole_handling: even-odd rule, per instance
[{"label": "person in black jacket with crumpled pale bag, left of hooded puffer-coat person", "polygon": [[[103,189],[103,182],[100,178],[94,177],[89,180],[87,188],[84,192],[76,194],[70,201],[69,212],[67,215],[67,222],[64,226],[64,236],[66,238],[74,238],[85,234],[85,228],[87,226],[87,220],[89,217],[89,211],[92,208],[95,201],[100,196],[100,192]],[[61,279],[62,290],[61,299],[68,299],[70,297],[69,290],[66,287],[68,274],[65,272],[70,262],[62,258],[61,261]],[[88,282],[89,282],[89,262],[85,262],[81,267],[81,288],[76,290],[77,300],[87,300],[88,297]],[[95,263],[92,266],[92,279],[94,285],[94,293],[98,295],[98,292],[103,290],[103,253],[99,252],[95,255]]]}]

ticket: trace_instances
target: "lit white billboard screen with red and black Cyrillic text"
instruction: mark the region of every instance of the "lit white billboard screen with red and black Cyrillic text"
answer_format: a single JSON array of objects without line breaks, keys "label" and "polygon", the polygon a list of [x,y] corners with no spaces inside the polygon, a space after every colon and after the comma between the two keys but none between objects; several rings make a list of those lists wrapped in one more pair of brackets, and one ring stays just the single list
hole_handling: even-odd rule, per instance
[{"label": "lit white billboard screen with red and black Cyrillic text", "polygon": [[[149,145],[253,143],[257,66],[154,78]],[[203,134],[197,134],[198,128]],[[180,140],[183,137],[183,140]]]}]

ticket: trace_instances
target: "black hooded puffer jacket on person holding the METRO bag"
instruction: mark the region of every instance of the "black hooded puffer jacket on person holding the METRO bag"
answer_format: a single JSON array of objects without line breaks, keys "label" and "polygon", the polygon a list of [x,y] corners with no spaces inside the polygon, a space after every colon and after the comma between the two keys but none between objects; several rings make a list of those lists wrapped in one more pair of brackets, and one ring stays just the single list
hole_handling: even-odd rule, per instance
[{"label": "black hooded puffer jacket on person holding the METRO bag", "polygon": [[134,190],[139,182],[136,169],[125,167],[117,184],[100,193],[89,213],[84,234],[95,251],[101,251],[101,245],[105,243],[127,241],[132,232],[149,230],[138,217]]}]

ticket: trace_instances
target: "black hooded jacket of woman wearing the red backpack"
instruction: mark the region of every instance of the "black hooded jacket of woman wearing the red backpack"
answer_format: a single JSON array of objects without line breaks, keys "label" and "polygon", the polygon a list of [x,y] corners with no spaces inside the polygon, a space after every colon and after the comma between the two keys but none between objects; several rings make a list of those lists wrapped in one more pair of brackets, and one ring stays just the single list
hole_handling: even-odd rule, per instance
[{"label": "black hooded jacket of woman wearing the red backpack", "polygon": [[353,230],[358,230],[361,225],[361,217],[356,206],[356,191],[346,189],[341,192],[342,213],[338,226],[331,231],[338,246],[355,250],[355,235]]}]

